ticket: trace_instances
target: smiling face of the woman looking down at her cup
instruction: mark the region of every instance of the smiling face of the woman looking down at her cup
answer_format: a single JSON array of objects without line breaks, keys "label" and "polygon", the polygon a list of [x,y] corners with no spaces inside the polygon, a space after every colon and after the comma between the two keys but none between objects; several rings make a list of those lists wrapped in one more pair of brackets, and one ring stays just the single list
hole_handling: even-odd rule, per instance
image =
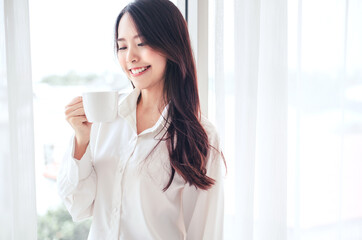
[{"label": "smiling face of the woman looking down at her cup", "polygon": [[167,59],[147,45],[128,13],[119,22],[118,61],[136,88],[163,87]]}]

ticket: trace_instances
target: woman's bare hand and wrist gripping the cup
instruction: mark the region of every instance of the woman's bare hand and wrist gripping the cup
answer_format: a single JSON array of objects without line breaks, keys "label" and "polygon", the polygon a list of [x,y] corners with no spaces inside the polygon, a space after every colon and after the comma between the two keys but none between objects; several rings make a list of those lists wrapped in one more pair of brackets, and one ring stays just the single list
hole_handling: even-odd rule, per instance
[{"label": "woman's bare hand and wrist gripping the cup", "polygon": [[75,131],[74,158],[79,160],[87,149],[92,126],[85,116],[82,97],[74,98],[65,106],[65,119]]}]

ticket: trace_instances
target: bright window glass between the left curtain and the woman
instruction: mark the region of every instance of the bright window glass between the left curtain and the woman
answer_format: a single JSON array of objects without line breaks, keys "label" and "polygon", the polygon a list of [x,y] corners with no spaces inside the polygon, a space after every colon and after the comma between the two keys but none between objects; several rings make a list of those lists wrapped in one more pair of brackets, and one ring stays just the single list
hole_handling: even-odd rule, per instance
[{"label": "bright window glass between the left curtain and the woman", "polygon": [[73,132],[64,107],[85,90],[130,86],[113,48],[115,20],[128,2],[29,1],[38,239],[87,238],[91,220],[73,223],[56,188]]}]

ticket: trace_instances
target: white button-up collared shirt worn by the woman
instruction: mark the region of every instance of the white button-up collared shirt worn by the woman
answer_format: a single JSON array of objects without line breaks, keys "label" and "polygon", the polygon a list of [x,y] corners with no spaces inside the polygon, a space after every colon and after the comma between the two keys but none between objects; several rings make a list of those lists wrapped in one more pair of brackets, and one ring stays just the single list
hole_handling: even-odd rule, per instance
[{"label": "white button-up collared shirt worn by the woman", "polygon": [[139,94],[134,89],[120,95],[116,121],[92,125],[81,160],[73,157],[73,137],[57,179],[73,221],[93,217],[90,240],[222,239],[224,168],[215,128],[202,119],[209,143],[219,150],[210,148],[206,165],[216,183],[207,191],[196,189],[175,173],[164,192],[171,173],[165,141],[149,153],[162,136],[157,134],[165,120],[161,116],[152,128],[137,134]]}]

